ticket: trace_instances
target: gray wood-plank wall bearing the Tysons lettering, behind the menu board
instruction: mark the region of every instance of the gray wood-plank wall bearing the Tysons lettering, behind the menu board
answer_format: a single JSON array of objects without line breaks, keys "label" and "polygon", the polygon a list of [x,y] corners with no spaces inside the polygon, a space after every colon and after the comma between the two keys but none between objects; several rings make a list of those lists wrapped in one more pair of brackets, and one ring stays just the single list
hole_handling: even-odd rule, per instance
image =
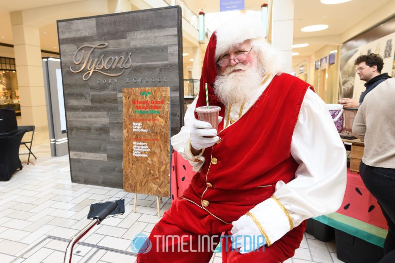
[{"label": "gray wood-plank wall bearing the Tysons lettering, behind the menu board", "polygon": [[[170,86],[170,133],[179,132],[184,98],[181,34],[178,6],[58,21],[72,182],[122,188],[124,87]],[[89,59],[123,56],[126,62],[130,53],[132,66],[94,68],[123,73],[95,71],[84,80],[92,63],[88,59],[82,67],[83,60],[76,64],[74,59],[79,62],[90,47],[76,51],[100,43],[108,45],[94,48]],[[83,69],[73,73],[70,68]]]}]

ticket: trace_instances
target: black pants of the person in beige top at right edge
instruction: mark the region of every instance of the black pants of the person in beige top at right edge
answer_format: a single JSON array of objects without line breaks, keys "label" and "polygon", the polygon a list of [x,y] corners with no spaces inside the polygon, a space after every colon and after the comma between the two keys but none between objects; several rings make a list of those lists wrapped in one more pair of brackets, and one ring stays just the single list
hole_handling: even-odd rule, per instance
[{"label": "black pants of the person in beige top at right edge", "polygon": [[[384,241],[384,254],[389,254],[395,251],[395,169],[368,166],[361,162],[359,172],[363,183],[377,199],[387,220],[389,231]],[[391,255],[395,256],[394,253]]]}]

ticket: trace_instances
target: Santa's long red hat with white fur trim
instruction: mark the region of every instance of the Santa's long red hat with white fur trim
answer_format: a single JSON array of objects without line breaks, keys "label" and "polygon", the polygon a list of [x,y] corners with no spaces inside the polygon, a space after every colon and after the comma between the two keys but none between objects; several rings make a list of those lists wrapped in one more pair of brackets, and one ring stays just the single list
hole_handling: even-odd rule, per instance
[{"label": "Santa's long red hat with white fur trim", "polygon": [[[196,107],[206,105],[205,83],[208,87],[209,105],[221,107],[220,116],[224,117],[225,107],[214,95],[213,83],[217,76],[216,62],[219,56],[248,39],[265,39],[264,27],[260,19],[247,15],[239,15],[221,25],[212,35],[207,44],[200,77],[199,97]],[[197,114],[195,113],[197,117]],[[223,122],[218,129],[223,128]]]}]

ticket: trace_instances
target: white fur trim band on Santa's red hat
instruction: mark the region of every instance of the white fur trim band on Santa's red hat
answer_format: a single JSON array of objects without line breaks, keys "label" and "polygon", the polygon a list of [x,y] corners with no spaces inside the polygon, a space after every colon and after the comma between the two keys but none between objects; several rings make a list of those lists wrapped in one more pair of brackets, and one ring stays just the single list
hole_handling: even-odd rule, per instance
[{"label": "white fur trim band on Santa's red hat", "polygon": [[251,15],[238,15],[222,24],[216,31],[217,46],[215,60],[237,44],[247,39],[264,39],[265,29],[262,21]]}]

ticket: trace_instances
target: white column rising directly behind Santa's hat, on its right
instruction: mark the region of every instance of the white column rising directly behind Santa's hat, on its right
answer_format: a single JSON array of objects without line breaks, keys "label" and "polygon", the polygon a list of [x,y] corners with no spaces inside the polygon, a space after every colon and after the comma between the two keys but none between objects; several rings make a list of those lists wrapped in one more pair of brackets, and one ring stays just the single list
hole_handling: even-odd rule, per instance
[{"label": "white column rising directly behind Santa's hat, on its right", "polygon": [[292,72],[294,0],[272,1],[272,45],[283,53],[284,72]]}]

